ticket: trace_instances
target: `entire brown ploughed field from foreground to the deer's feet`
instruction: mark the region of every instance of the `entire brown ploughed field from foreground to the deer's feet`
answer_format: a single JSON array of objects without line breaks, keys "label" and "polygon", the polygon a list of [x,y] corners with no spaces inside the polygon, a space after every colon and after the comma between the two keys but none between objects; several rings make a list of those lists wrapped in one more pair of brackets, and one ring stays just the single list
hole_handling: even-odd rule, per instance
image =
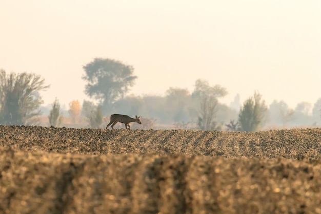
[{"label": "entire brown ploughed field from foreground to the deer's feet", "polygon": [[321,213],[321,129],[0,125],[0,213]]}]

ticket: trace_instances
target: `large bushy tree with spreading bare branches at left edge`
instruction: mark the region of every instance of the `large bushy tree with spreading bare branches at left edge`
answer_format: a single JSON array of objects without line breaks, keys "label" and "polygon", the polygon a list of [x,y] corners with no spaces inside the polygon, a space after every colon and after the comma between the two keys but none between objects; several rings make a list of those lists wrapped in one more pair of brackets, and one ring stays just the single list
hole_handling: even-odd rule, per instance
[{"label": "large bushy tree with spreading bare branches at left edge", "polygon": [[41,114],[39,91],[46,90],[45,79],[33,73],[10,73],[0,70],[0,123],[30,124]]}]

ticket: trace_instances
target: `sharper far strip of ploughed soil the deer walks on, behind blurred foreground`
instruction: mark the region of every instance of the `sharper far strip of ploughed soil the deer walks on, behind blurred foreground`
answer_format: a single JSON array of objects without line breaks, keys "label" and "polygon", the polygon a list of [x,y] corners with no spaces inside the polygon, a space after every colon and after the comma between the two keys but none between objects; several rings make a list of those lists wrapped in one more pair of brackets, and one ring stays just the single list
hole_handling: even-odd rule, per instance
[{"label": "sharper far strip of ploughed soil the deer walks on, behind blurred foreground", "polygon": [[245,133],[0,125],[0,145],[71,154],[185,154],[316,160],[321,154],[321,129]]}]

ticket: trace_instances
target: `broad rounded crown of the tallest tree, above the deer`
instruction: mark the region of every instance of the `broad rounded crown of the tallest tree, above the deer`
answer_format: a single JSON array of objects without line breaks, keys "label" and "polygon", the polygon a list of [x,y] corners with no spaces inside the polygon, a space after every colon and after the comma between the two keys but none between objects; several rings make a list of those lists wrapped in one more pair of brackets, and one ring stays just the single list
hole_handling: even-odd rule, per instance
[{"label": "broad rounded crown of the tallest tree, above the deer", "polygon": [[134,85],[134,68],[114,59],[95,58],[83,67],[87,81],[85,93],[107,109]]}]

